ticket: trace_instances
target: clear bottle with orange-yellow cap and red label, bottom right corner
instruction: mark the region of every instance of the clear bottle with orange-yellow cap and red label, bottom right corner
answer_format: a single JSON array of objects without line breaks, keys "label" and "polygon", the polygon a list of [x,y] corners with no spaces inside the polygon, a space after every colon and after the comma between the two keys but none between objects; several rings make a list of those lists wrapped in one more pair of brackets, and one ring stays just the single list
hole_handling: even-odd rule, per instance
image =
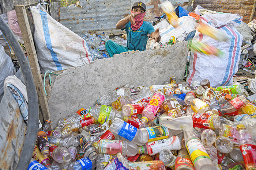
[{"label": "clear bottle with orange-yellow cap and red label, bottom right corner", "polygon": [[242,124],[237,125],[237,141],[243,154],[246,170],[256,169],[256,145],[251,133]]}]

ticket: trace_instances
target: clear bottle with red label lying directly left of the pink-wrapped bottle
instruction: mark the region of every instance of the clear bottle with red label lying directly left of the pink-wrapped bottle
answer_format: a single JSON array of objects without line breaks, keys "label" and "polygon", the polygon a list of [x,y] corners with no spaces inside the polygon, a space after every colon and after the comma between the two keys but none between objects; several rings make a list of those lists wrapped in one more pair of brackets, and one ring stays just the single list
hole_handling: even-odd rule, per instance
[{"label": "clear bottle with red label lying directly left of the pink-wrapped bottle", "polygon": [[148,103],[134,103],[134,104],[126,104],[122,108],[122,115],[129,117],[132,115],[141,114],[143,109],[147,106]]}]

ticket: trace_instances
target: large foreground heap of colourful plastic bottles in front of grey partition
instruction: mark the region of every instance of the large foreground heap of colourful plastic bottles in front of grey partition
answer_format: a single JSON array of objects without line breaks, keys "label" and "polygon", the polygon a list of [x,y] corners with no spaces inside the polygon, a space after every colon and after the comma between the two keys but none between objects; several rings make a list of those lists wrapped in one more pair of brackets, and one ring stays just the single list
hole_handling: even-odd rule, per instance
[{"label": "large foreground heap of colourful plastic bottles in front of grey partition", "polygon": [[254,170],[256,106],[242,85],[125,85],[38,132],[29,168]]}]

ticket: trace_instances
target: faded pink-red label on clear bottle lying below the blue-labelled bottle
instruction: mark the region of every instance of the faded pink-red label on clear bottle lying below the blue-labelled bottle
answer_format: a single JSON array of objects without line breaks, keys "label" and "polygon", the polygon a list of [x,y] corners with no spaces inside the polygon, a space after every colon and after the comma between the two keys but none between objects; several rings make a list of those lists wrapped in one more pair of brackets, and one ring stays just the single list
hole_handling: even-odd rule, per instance
[{"label": "faded pink-red label on clear bottle lying below the blue-labelled bottle", "polygon": [[99,152],[102,154],[117,154],[122,153],[123,141],[122,140],[101,140],[101,146],[99,146]]}]

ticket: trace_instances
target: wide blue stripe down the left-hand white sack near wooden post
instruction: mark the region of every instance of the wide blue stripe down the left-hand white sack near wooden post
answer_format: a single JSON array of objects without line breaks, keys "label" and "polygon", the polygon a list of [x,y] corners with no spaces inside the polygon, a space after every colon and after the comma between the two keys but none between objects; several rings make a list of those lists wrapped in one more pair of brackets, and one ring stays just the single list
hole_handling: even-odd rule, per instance
[{"label": "wide blue stripe down the left-hand white sack near wooden post", "polygon": [[61,64],[58,60],[57,54],[52,49],[52,42],[51,42],[51,38],[50,38],[50,32],[49,32],[46,12],[39,11],[39,13],[41,15],[42,27],[43,27],[43,30],[44,30],[46,47],[48,48],[48,50],[50,51],[50,53],[52,55],[52,60],[54,61],[55,65],[57,67],[57,70],[63,70],[62,67],[61,67]]}]

